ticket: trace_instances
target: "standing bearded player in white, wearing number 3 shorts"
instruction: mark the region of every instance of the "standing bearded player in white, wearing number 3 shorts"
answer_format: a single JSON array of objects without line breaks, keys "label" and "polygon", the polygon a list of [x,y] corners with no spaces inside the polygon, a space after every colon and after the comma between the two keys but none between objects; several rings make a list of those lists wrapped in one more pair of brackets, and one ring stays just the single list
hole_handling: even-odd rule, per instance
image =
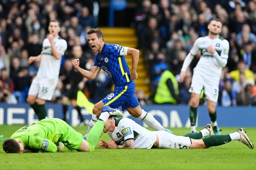
[{"label": "standing bearded player in white, wearing number 3 shorts", "polygon": [[207,109],[211,118],[211,124],[215,134],[221,134],[217,124],[216,102],[218,100],[218,86],[221,77],[221,70],[227,64],[229,53],[229,43],[219,36],[222,23],[219,19],[212,19],[209,22],[209,34],[198,38],[189,54],[186,56],[183,67],[180,72],[180,82],[186,77],[186,68],[189,66],[193,57],[201,51],[201,57],[194,68],[191,87],[191,104],[189,109],[189,118],[191,131],[196,131],[197,108],[199,105],[200,94],[204,88],[204,94],[207,99]]}]

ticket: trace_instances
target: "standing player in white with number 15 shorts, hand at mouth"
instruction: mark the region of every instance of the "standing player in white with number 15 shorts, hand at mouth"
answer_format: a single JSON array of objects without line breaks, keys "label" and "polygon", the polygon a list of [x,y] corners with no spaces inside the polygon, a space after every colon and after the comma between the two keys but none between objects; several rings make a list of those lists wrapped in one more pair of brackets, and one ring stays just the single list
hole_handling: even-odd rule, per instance
[{"label": "standing player in white with number 15 shorts, hand at mouth", "polygon": [[58,83],[61,57],[67,49],[67,42],[58,35],[61,27],[57,20],[50,21],[48,30],[49,35],[44,39],[41,54],[29,57],[30,64],[34,61],[41,61],[27,98],[27,102],[34,109],[39,120],[44,119],[47,114],[45,101],[52,99]]}]

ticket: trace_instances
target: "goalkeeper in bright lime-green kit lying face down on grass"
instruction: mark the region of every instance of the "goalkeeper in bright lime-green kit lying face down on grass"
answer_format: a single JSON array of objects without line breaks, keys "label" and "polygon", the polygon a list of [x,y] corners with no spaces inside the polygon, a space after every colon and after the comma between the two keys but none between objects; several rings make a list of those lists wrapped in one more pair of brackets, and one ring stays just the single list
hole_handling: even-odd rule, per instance
[{"label": "goalkeeper in bright lime-green kit lying face down on grass", "polygon": [[[102,134],[105,122],[109,116],[123,116],[122,112],[103,106],[99,120],[90,130],[87,141],[82,134],[76,132],[70,125],[58,118],[43,119],[39,122],[21,127],[12,134],[10,139],[3,142],[6,153],[24,153],[25,148],[32,148],[33,152],[57,152],[63,149],[63,144],[69,150],[93,151]],[[30,152],[31,150],[28,150]]]}]

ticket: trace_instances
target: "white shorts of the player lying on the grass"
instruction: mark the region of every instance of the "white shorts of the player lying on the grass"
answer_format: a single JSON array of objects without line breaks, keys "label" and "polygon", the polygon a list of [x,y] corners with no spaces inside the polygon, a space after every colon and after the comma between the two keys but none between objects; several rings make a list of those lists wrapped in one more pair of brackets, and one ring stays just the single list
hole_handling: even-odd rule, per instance
[{"label": "white shorts of the player lying on the grass", "polygon": [[176,136],[169,132],[156,131],[159,139],[158,148],[166,149],[189,149],[191,139],[185,136]]}]

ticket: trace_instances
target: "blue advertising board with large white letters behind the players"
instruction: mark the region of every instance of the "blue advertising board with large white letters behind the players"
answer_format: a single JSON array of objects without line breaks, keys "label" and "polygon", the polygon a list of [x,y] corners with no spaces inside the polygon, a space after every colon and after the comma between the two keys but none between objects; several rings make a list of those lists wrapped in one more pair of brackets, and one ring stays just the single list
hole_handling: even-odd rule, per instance
[{"label": "blue advertising board with large white letters behind the players", "polygon": [[[61,104],[46,104],[49,118],[63,117]],[[151,113],[164,127],[189,127],[189,106],[187,105],[146,105],[142,107]],[[88,125],[91,115],[81,109],[85,123]],[[140,125],[146,126],[142,121],[132,117],[127,111],[124,116],[133,119]],[[70,105],[68,108],[68,123],[72,126],[79,124],[79,116],[76,109]],[[206,106],[198,107],[198,126],[210,123],[209,113]],[[26,103],[9,105],[0,103],[0,125],[30,124],[38,121],[33,109]],[[256,107],[236,106],[217,107],[217,121],[221,127],[256,127]]]}]

